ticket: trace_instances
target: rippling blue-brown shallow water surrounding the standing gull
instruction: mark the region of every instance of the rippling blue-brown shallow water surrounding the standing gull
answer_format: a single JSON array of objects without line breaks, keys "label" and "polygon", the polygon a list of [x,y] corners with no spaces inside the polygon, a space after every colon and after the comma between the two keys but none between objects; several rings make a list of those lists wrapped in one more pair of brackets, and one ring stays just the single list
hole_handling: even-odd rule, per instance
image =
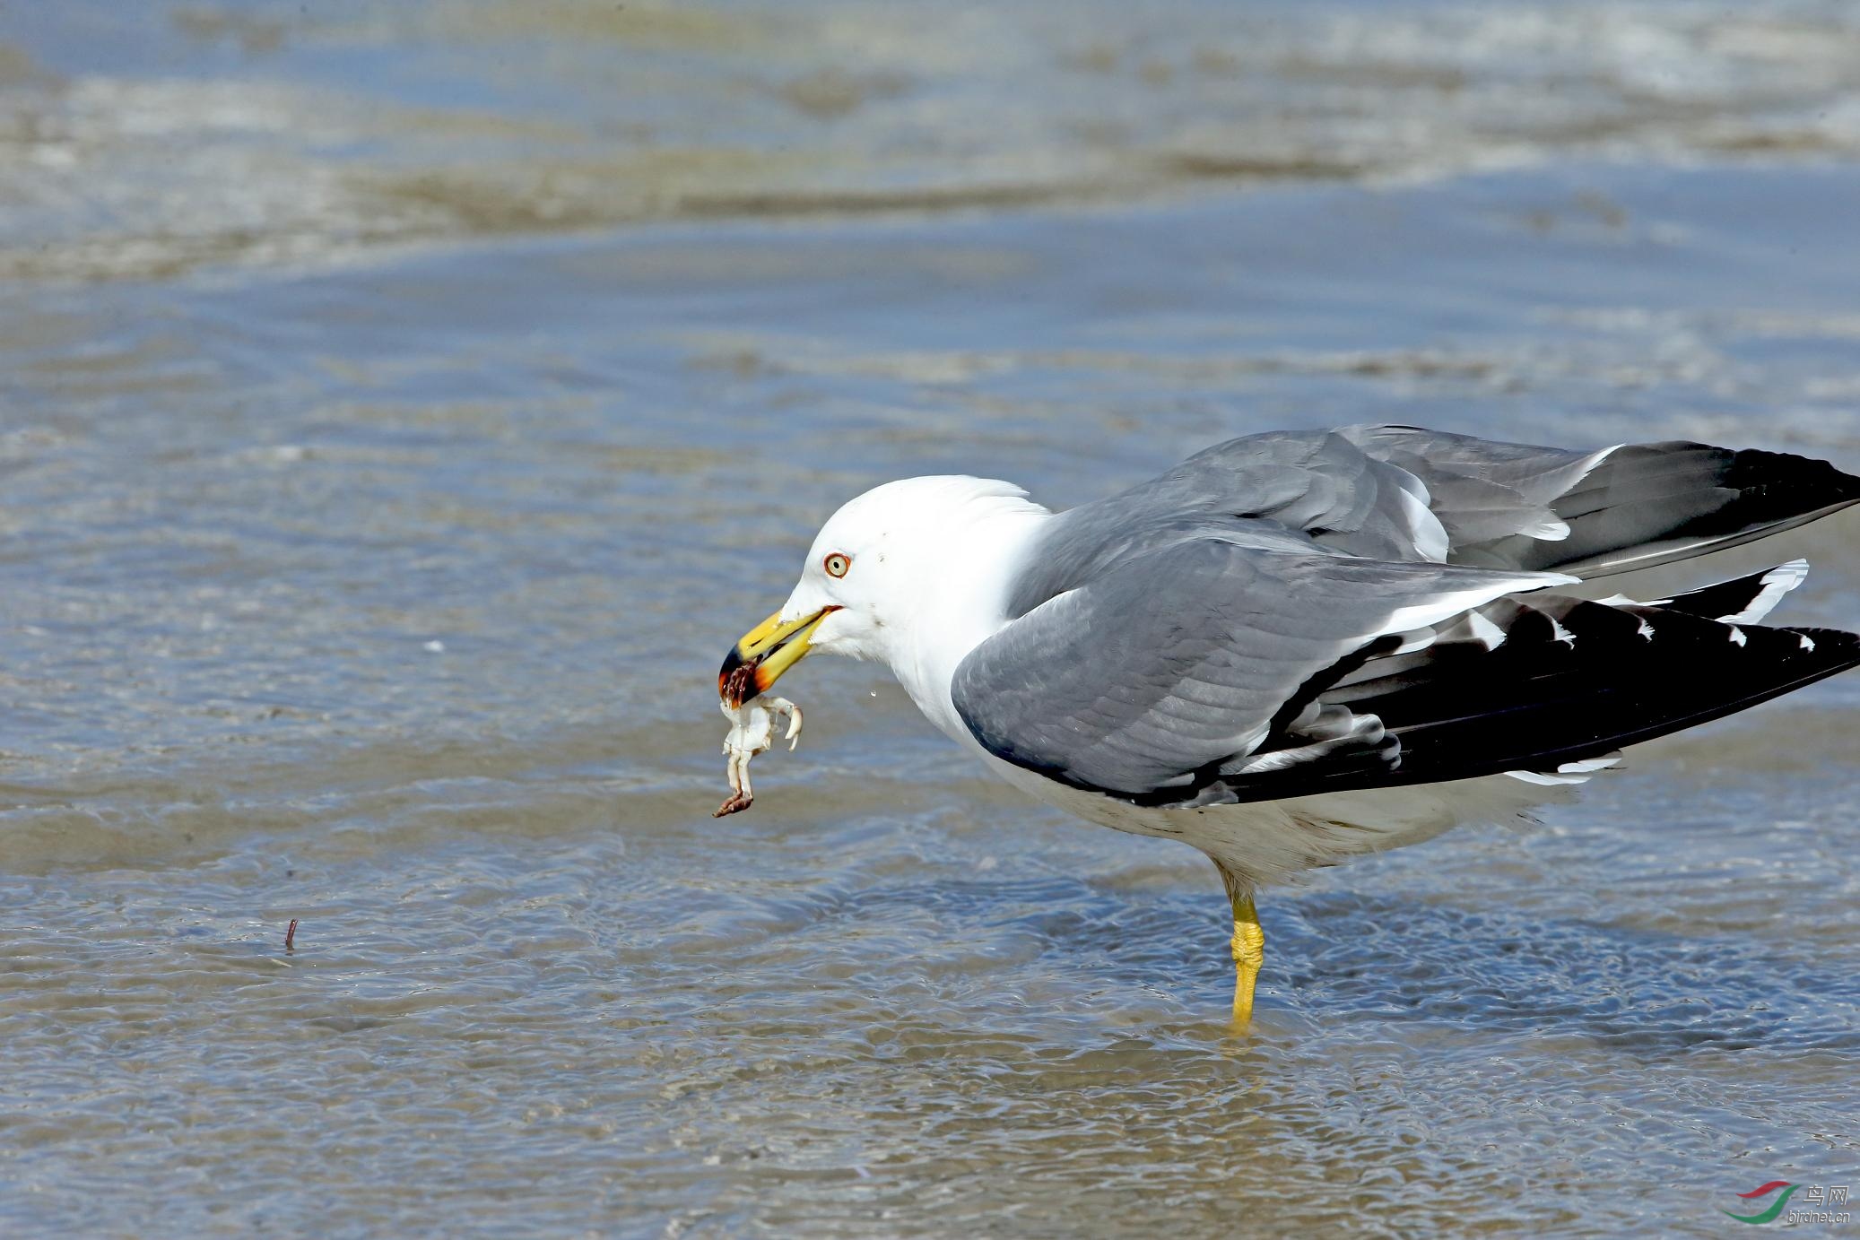
[{"label": "rippling blue-brown shallow water surrounding the standing gull", "polygon": [[[1244,1039],[1207,863],[878,669],[709,818],[724,649],[885,478],[1362,420],[1860,468],[1847,6],[125,7],[0,11],[0,1229],[1856,1179],[1854,677],[1269,892]],[[1856,532],[1748,561],[1853,625]]]}]

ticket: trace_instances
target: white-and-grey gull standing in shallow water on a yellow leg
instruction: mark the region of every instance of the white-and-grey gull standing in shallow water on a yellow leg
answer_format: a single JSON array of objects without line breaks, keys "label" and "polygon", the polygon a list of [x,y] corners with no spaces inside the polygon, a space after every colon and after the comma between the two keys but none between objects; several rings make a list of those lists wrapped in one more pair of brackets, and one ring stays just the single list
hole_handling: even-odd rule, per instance
[{"label": "white-and-grey gull standing in shallow water on a yellow leg", "polygon": [[1860,478],[1799,455],[1415,426],[1231,439],[1066,511],[906,478],[833,513],[718,692],[742,706],[811,651],[882,662],[1010,783],[1202,850],[1244,1026],[1263,885],[1527,814],[1624,745],[1860,664],[1856,634],[1761,625],[1800,560],[1588,587],[1854,502]]}]

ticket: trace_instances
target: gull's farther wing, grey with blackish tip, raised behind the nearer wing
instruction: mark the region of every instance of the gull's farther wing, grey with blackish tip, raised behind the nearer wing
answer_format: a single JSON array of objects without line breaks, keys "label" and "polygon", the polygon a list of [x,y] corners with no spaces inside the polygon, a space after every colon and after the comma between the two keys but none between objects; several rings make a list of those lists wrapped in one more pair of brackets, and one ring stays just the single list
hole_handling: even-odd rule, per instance
[{"label": "gull's farther wing, grey with blackish tip, raised behind the nearer wing", "polygon": [[1194,537],[1590,578],[1854,502],[1860,478],[1780,452],[1680,441],[1570,452],[1415,426],[1270,431],[1058,513],[1008,613]]}]

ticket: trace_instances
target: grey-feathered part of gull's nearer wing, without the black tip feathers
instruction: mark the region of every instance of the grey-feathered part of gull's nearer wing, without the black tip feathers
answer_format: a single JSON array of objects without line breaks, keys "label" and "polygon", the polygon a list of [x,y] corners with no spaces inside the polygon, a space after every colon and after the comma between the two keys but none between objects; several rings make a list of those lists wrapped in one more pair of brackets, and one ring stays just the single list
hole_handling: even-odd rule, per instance
[{"label": "grey-feathered part of gull's nearer wing, without the black tip feathers", "polygon": [[[1055,550],[1049,547],[1049,550]],[[1479,604],[1572,578],[1189,537],[1047,599],[958,666],[980,744],[1125,798],[1189,796],[1276,729],[1362,757],[1380,725],[1322,714],[1354,664]]]}]

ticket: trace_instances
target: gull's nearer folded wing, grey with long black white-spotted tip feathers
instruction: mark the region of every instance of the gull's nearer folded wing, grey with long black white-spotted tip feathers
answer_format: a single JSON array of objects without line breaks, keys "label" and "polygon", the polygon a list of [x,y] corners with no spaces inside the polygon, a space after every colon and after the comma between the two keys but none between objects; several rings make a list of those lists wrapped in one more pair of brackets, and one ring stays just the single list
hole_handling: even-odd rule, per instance
[{"label": "gull's nearer folded wing, grey with long black white-spotted tip feathers", "polygon": [[995,757],[1136,805],[1579,781],[1860,666],[1854,634],[1750,623],[1800,574],[1587,602],[1540,589],[1562,576],[1194,539],[1012,621],[950,690]]}]

